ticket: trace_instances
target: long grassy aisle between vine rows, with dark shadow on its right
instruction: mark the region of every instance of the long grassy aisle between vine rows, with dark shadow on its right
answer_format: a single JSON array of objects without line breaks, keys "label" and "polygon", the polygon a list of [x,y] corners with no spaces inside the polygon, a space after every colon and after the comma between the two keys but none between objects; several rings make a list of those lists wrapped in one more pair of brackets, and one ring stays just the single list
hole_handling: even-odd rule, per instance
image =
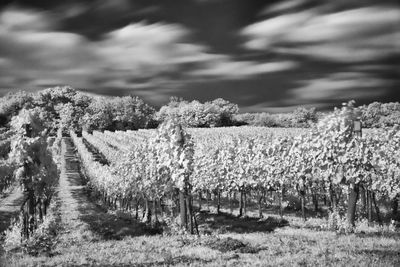
[{"label": "long grassy aisle between vine rows, with dark shadow on its right", "polygon": [[[70,138],[62,141],[62,163],[59,186],[60,213],[65,244],[98,239],[121,239],[141,233],[141,224],[120,218],[91,201],[79,171],[79,159]],[[73,234],[71,234],[73,233]],[[67,240],[66,240],[67,239]],[[68,240],[72,239],[72,240]]]}]

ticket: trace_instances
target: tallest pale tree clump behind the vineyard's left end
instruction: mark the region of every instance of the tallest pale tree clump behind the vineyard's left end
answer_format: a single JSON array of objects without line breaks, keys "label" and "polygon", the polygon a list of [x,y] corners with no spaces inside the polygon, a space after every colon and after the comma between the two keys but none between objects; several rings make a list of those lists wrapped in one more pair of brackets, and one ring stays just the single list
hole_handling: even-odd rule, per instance
[{"label": "tallest pale tree clump behind the vineyard's left end", "polygon": [[138,97],[89,97],[68,86],[7,94],[0,100],[0,127],[7,126],[23,110],[40,118],[50,134],[59,128],[127,130],[155,124],[154,108]]}]

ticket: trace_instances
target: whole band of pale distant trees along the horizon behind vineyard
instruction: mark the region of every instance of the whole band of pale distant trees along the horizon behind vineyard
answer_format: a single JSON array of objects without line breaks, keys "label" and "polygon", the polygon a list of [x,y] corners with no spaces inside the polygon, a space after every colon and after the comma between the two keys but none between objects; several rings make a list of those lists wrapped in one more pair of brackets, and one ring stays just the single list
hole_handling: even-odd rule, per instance
[{"label": "whole band of pale distant trees along the horizon behind vineyard", "polygon": [[[363,127],[385,127],[400,124],[400,103],[379,103],[359,107]],[[61,128],[80,132],[93,130],[136,130],[155,128],[166,119],[174,118],[188,127],[221,127],[254,125],[265,127],[309,127],[324,114],[315,108],[299,107],[291,113],[239,114],[237,104],[217,98],[200,103],[171,97],[158,112],[136,96],[88,96],[64,86],[35,93],[9,93],[0,98],[0,128],[9,127],[12,118],[29,110],[41,121],[48,133]]]}]

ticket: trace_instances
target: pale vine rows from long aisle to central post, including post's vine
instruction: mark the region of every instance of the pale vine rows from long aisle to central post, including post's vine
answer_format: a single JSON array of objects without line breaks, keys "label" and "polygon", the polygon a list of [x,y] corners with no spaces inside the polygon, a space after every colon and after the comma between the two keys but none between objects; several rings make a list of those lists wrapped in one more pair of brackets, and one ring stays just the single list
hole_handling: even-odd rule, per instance
[{"label": "pale vine rows from long aisle to central post, including post's vine", "polygon": [[[164,122],[151,133],[151,136],[139,136],[130,141],[123,134],[113,138],[114,134],[97,132],[94,136],[83,132],[83,137],[79,138],[72,132],[71,136],[94,192],[105,199],[124,202],[142,198],[148,214],[150,200],[155,203],[179,192],[184,207],[181,208],[182,226],[193,232],[193,223],[188,223],[193,221],[190,196],[194,151],[191,137],[174,120]],[[97,162],[84,140],[105,155],[110,165]],[[154,214],[157,213],[154,211]],[[147,222],[149,216],[145,216]]]}]

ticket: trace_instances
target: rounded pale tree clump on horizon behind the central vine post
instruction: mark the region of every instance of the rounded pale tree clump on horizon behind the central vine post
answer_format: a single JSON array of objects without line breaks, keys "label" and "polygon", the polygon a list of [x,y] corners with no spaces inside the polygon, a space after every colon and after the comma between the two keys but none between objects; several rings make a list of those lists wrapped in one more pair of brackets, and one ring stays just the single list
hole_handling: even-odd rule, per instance
[{"label": "rounded pale tree clump on horizon behind the central vine post", "polygon": [[158,121],[175,118],[188,127],[219,127],[234,124],[233,116],[239,112],[238,105],[225,99],[200,103],[171,97],[170,102],[156,113]]}]

